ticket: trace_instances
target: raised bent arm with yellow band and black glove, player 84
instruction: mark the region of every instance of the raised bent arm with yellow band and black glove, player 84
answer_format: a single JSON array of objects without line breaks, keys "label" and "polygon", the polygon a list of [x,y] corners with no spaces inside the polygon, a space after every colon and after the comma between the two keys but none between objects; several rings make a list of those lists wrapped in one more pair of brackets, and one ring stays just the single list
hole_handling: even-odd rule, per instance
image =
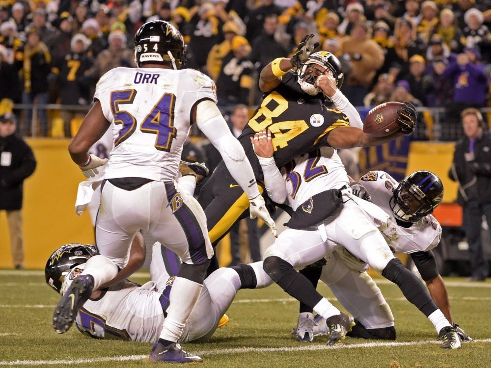
[{"label": "raised bent arm with yellow band and black glove, player 84", "polygon": [[303,63],[311,53],[319,47],[313,43],[314,34],[308,34],[300,41],[292,57],[278,57],[266,65],[259,75],[259,88],[263,92],[271,92],[281,82],[281,78],[294,67]]}]

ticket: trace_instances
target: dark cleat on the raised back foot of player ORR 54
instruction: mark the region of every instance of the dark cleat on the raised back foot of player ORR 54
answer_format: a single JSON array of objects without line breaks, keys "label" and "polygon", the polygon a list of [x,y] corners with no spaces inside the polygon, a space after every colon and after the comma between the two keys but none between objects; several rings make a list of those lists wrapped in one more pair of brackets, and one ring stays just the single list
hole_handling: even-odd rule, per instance
[{"label": "dark cleat on the raised back foot of player ORR 54", "polygon": [[80,275],[72,281],[72,285],[58,302],[53,313],[53,327],[58,334],[64,334],[72,326],[77,312],[90,298],[92,289],[94,278],[91,275]]}]

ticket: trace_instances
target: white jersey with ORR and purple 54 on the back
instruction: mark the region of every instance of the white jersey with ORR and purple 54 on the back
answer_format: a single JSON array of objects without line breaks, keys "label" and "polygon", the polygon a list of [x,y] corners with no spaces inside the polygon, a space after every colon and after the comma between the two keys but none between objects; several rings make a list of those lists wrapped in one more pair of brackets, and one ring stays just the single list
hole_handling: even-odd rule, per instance
[{"label": "white jersey with ORR and purple 54 on the back", "polygon": [[105,178],[155,181],[178,178],[193,107],[217,102],[215,83],[196,70],[123,67],[101,77],[94,99],[113,132]]}]

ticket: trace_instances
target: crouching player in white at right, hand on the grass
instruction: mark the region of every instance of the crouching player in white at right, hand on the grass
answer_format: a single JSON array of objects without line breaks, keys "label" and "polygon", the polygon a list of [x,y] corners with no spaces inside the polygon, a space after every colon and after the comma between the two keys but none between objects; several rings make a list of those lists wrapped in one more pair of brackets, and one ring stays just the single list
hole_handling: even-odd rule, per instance
[{"label": "crouching player in white at right, hand on the grass", "polygon": [[[432,249],[441,237],[441,227],[431,215],[443,198],[443,185],[429,171],[416,171],[397,183],[383,171],[370,171],[361,177],[361,184],[352,182],[354,194],[370,200],[389,215],[379,227],[394,254],[409,254],[445,317],[456,328],[461,340],[471,340],[453,322],[447,289],[438,274]],[[301,208],[295,215],[304,216]],[[366,274],[368,265],[345,249],[337,249],[326,258],[327,264],[313,265],[300,271],[314,286],[321,279],[339,302],[355,317],[355,326],[348,336],[364,339],[395,340],[393,317],[373,280]],[[366,317],[368,316],[368,318]],[[326,324],[312,310],[300,305],[297,340],[309,342],[316,335],[327,333]]]}]

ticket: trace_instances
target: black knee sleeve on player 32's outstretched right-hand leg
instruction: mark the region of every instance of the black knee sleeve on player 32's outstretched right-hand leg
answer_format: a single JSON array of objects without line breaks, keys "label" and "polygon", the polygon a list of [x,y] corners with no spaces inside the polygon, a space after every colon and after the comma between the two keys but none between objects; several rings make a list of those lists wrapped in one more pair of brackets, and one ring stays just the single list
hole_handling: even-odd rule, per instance
[{"label": "black knee sleeve on player 32's outstretched right-hand leg", "polygon": [[426,316],[438,309],[426,286],[398,258],[387,263],[382,271],[382,276],[396,284],[406,299]]}]

